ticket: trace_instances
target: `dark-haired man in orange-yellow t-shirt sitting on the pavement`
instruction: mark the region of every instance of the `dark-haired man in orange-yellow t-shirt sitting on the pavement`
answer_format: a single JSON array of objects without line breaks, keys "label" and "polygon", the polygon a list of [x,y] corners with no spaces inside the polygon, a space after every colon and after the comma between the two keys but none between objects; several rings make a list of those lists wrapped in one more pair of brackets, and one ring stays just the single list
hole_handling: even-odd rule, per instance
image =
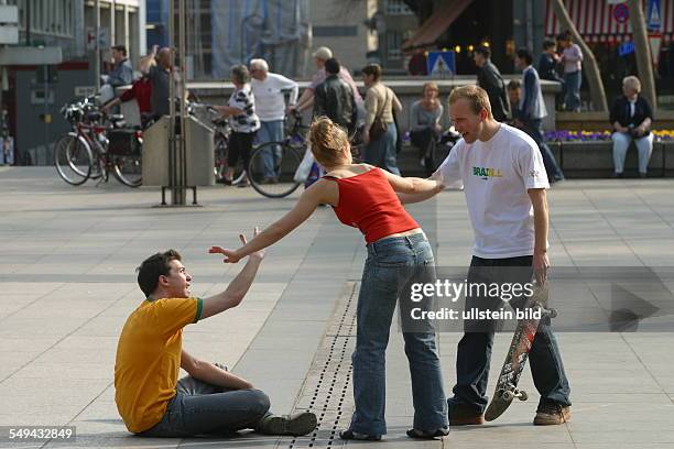
[{"label": "dark-haired man in orange-yellow t-shirt sitting on the pavement", "polygon": [[[246,243],[243,234],[240,239]],[[241,304],[263,258],[263,251],[252,253],[227,289],[204,299],[192,296],[192,276],[177,251],[143,261],[138,283],[146,299],[127,319],[115,363],[115,402],[129,431],[183,438],[240,429],[267,435],[314,430],[314,414],[272,415],[264,392],[182,346],[185,326]],[[189,375],[178,381],[181,368]]]}]

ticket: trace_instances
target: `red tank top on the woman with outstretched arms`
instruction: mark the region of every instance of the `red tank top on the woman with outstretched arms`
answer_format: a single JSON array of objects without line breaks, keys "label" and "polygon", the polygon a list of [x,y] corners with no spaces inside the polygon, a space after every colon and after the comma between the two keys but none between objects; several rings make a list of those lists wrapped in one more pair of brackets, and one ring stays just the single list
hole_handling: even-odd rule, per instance
[{"label": "red tank top on the woman with outstretched arms", "polygon": [[366,242],[418,228],[403,208],[381,168],[348,178],[325,176],[339,188],[339,204],[333,206],[343,223],[360,229]]}]

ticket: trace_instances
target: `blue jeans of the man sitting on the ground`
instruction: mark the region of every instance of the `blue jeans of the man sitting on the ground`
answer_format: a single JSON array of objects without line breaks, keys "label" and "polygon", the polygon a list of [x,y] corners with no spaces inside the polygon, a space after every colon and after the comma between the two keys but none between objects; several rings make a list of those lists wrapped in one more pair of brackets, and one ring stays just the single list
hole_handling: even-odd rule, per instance
[{"label": "blue jeans of the man sitting on the ground", "polygon": [[269,397],[260,390],[227,390],[188,375],[178,381],[162,420],[138,435],[185,438],[256,429],[270,415],[269,407]]}]

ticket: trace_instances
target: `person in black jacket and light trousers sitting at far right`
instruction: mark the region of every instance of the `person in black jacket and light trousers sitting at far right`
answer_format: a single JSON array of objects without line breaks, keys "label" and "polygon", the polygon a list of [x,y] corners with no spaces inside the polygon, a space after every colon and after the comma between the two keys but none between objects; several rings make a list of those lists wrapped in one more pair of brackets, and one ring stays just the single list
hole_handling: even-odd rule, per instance
[{"label": "person in black jacket and light trousers sitting at far right", "polygon": [[611,107],[610,122],[613,127],[615,177],[622,177],[624,155],[630,143],[639,151],[639,176],[645,177],[653,152],[653,110],[645,98],[641,97],[641,81],[635,76],[622,80],[622,96],[616,98]]}]

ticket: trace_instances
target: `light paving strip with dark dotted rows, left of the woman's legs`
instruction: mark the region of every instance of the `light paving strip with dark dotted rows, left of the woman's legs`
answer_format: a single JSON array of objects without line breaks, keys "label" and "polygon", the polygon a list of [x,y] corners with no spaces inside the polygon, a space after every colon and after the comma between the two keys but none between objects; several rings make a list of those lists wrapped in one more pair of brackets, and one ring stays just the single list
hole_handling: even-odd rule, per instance
[{"label": "light paving strip with dark dotted rows, left of the woman's legs", "polygon": [[339,299],[333,321],[309,369],[295,412],[316,414],[318,425],[312,435],[284,438],[278,448],[338,448],[346,446],[339,431],[351,420],[351,353],[356,347],[356,303],[358,283],[348,283]]}]

